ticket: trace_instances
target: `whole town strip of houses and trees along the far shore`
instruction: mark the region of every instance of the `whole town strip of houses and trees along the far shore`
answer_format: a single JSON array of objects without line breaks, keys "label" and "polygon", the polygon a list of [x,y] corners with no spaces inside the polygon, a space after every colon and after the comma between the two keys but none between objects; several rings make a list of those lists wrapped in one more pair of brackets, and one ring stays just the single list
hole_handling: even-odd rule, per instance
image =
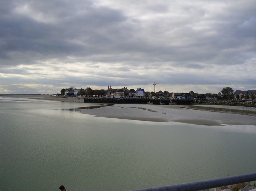
[{"label": "whole town strip of houses and trees along the far shore", "polygon": [[145,91],[142,88],[127,89],[123,88],[112,88],[108,86],[107,89],[93,90],[87,87],[74,88],[73,86],[66,89],[61,89],[61,93],[57,94],[59,96],[72,96],[72,97],[108,97],[108,98],[151,98],[151,99],[205,99],[205,100],[255,100],[256,90],[234,91],[230,87],[223,88],[218,94],[206,93],[198,94],[194,91],[189,91],[188,93],[169,93],[167,90],[160,90],[157,92]]}]

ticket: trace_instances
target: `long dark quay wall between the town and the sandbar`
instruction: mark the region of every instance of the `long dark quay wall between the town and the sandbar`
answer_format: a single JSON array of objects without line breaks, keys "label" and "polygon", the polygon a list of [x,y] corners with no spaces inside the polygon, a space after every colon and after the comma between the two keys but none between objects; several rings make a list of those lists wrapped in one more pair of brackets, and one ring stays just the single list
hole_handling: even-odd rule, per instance
[{"label": "long dark quay wall between the town and the sandbar", "polygon": [[94,98],[86,97],[84,103],[121,103],[121,104],[147,104],[150,101],[153,104],[159,104],[160,102],[169,104],[170,101],[176,102],[177,105],[191,105],[193,100],[170,100],[170,99],[132,99],[132,98]]}]

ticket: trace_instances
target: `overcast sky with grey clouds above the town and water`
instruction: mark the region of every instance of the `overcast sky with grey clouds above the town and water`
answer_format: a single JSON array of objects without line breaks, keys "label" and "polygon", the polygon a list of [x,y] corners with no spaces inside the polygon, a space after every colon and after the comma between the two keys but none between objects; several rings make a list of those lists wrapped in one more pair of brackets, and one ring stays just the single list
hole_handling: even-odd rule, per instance
[{"label": "overcast sky with grey clouds above the town and water", "polygon": [[1,0],[0,93],[256,90],[255,0]]}]

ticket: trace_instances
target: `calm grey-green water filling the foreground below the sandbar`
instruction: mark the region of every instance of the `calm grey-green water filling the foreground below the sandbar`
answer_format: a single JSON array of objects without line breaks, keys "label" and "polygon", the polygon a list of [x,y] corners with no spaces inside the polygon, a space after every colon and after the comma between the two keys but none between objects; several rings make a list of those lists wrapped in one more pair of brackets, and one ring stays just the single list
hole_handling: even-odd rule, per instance
[{"label": "calm grey-green water filling the foreground below the sandbar", "polygon": [[124,191],[256,172],[255,126],[68,110],[90,105],[0,98],[0,190]]}]

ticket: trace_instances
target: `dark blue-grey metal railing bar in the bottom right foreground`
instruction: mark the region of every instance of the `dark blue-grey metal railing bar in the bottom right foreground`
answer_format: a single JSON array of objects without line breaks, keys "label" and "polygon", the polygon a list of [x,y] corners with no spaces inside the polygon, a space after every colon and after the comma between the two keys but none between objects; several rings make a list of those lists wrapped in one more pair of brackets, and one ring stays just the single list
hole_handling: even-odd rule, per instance
[{"label": "dark blue-grey metal railing bar in the bottom right foreground", "polygon": [[130,191],[198,191],[251,181],[256,181],[256,173]]}]

